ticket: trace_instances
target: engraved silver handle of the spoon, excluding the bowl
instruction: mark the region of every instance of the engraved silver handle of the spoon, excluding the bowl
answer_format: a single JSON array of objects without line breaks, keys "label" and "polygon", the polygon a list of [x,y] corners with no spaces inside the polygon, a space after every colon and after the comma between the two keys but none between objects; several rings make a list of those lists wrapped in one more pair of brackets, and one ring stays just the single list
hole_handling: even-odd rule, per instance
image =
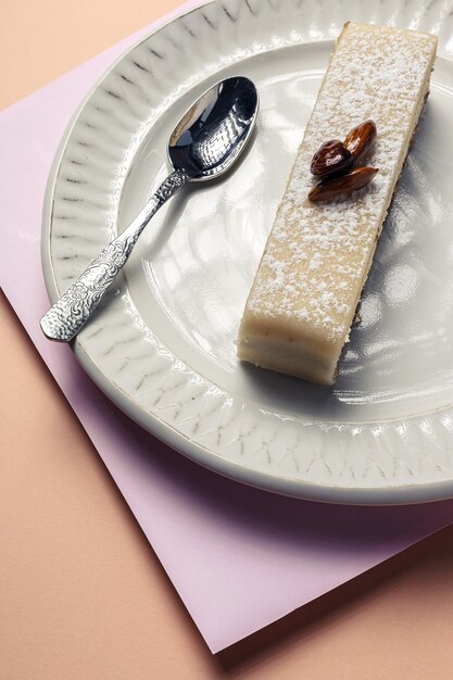
[{"label": "engraved silver handle of the spoon, excluding the bowl", "polygon": [[138,237],[151,217],[189,179],[189,175],[184,171],[177,169],[172,173],[127,229],[109,243],[79,278],[59,298],[40,322],[48,338],[61,342],[68,342],[74,338],[89,319],[102,295],[127,261]]}]

